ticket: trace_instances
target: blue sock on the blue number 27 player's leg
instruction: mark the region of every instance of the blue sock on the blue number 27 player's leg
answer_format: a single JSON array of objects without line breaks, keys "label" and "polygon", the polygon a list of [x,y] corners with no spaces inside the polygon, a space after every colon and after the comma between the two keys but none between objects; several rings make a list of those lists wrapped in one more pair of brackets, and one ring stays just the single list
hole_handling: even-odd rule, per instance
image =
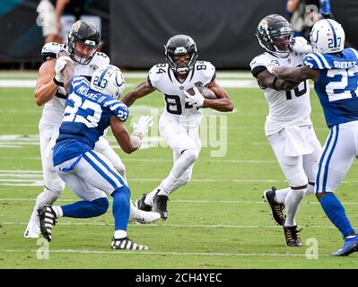
[{"label": "blue sock on the blue number 27 player's leg", "polygon": [[345,238],[355,233],[351,222],[345,215],[345,208],[334,193],[327,193],[326,196],[322,196],[320,204],[329,220],[336,225],[336,228],[341,231]]}]

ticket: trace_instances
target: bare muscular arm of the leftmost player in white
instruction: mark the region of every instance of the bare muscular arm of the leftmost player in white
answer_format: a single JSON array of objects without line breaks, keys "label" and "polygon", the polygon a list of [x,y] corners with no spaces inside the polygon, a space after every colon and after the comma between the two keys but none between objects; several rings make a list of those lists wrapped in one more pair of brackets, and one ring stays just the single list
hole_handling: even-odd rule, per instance
[{"label": "bare muscular arm of the leftmost player in white", "polygon": [[39,67],[39,77],[35,89],[35,101],[38,106],[51,100],[58,89],[58,85],[53,81],[55,64],[55,59],[49,59]]}]

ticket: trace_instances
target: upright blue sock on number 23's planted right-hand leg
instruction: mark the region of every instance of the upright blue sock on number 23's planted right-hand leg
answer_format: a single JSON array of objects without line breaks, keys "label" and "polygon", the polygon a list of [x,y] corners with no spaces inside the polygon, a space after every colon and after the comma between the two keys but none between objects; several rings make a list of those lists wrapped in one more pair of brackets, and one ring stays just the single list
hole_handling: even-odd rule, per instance
[{"label": "upright blue sock on number 23's planted right-hand leg", "polygon": [[114,217],[114,230],[127,230],[130,210],[129,187],[119,187],[115,191],[113,191],[110,196],[113,197],[112,212]]}]

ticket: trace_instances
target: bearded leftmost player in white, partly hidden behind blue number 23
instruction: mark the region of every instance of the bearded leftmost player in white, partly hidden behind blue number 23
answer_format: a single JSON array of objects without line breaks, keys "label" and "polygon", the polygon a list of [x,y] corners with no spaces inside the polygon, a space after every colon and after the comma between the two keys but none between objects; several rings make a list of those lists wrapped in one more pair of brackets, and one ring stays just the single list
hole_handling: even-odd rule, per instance
[{"label": "bearded leftmost player in white, partly hidden behind blue number 23", "polygon": [[[64,181],[58,177],[52,164],[52,149],[58,136],[58,128],[61,125],[65,109],[66,92],[63,87],[61,68],[65,67],[57,63],[58,54],[68,54],[74,61],[74,75],[83,75],[91,79],[94,71],[101,65],[109,64],[109,57],[97,52],[100,47],[100,31],[92,22],[78,21],[72,26],[68,35],[67,46],[58,43],[47,43],[42,48],[44,63],[39,68],[39,78],[36,83],[35,100],[38,106],[44,106],[42,117],[39,120],[39,141],[44,178],[44,189],[36,199],[36,204],[31,213],[30,222],[24,232],[25,238],[39,237],[39,217],[37,210],[43,204],[54,203],[65,189]],[[61,60],[60,60],[61,61]],[[96,143],[95,151],[102,153],[113,164],[118,173],[126,178],[126,169],[117,152],[109,142],[100,137]],[[131,202],[131,217],[139,221],[152,222],[157,214],[143,213],[136,209]]]}]

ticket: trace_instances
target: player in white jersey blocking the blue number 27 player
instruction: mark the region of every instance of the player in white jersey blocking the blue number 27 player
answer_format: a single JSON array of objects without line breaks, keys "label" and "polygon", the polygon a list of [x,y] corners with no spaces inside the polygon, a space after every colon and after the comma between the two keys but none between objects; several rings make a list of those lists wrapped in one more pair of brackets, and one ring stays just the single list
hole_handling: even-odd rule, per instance
[{"label": "player in white jersey blocking the blue number 27 player", "polygon": [[321,151],[310,120],[310,86],[308,81],[297,83],[278,79],[267,69],[272,65],[301,65],[305,55],[293,52],[291,24],[280,15],[263,18],[256,35],[266,52],[255,57],[250,68],[265,93],[269,107],[265,135],[290,185],[281,190],[272,187],[264,192],[264,198],[270,205],[275,222],[283,225],[286,245],[301,247],[296,214],[301,198],[314,192]]}]

